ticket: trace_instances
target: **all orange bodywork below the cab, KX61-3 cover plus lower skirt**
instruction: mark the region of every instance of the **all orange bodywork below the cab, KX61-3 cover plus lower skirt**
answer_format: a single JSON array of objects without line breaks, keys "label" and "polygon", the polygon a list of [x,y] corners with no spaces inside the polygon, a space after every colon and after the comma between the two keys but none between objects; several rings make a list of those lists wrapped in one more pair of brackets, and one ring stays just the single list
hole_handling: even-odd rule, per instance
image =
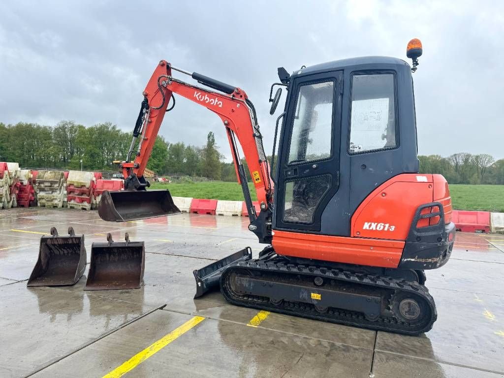
[{"label": "all orange bodywork below the cab, KX61-3 cover plus lower skirt", "polygon": [[[276,230],[272,244],[279,255],[397,268],[415,211],[431,202],[443,204],[445,222],[449,223],[452,203],[442,175],[399,174],[377,187],[355,210],[351,237]],[[420,219],[417,224],[428,225],[429,219]]]}]

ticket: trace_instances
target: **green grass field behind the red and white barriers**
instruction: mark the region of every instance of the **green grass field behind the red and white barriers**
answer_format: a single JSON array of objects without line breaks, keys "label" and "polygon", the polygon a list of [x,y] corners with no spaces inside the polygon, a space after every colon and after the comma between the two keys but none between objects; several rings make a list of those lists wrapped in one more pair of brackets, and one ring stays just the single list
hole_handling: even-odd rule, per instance
[{"label": "green grass field behind the red and white barriers", "polygon": [[[249,183],[253,201],[254,185]],[[168,189],[172,196],[243,201],[241,186],[236,182],[208,181],[182,183],[153,183],[153,189]],[[504,185],[450,185],[453,208],[456,210],[483,210],[504,213]]]}]

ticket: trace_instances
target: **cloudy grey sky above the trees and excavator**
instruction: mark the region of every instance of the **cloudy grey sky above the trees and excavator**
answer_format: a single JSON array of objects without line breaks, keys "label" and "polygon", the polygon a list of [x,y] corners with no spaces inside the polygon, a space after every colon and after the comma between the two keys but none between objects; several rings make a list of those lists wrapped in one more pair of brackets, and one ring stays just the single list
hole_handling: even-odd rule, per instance
[{"label": "cloudy grey sky above the trees and excavator", "polygon": [[[418,37],[419,153],[504,158],[504,2],[18,0],[0,3],[0,17],[0,122],[111,121],[132,130],[142,91],[166,59],[244,89],[270,151],[277,67],[406,59]],[[210,130],[229,157],[217,115],[179,97],[161,134],[202,145]]]}]

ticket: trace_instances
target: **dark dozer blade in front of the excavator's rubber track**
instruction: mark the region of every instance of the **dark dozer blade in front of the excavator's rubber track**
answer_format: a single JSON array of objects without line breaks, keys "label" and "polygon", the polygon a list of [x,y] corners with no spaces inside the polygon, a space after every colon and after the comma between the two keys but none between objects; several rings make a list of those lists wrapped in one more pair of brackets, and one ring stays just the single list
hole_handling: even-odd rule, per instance
[{"label": "dark dozer blade in front of the excavator's rubber track", "polygon": [[196,294],[195,298],[201,297],[207,291],[212,290],[219,286],[219,280],[222,272],[231,264],[236,264],[240,261],[252,259],[252,250],[246,247],[232,255],[207,265],[201,269],[193,271],[194,278],[196,279]]}]

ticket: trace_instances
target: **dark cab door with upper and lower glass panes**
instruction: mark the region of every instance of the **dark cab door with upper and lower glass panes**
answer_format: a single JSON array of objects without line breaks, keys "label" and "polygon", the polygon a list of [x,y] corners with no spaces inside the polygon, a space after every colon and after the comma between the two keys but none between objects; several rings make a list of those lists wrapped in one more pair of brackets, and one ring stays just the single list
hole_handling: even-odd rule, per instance
[{"label": "dark cab door with upper and lower glass panes", "polygon": [[279,150],[275,229],[320,231],[338,191],[341,71],[297,77]]}]

